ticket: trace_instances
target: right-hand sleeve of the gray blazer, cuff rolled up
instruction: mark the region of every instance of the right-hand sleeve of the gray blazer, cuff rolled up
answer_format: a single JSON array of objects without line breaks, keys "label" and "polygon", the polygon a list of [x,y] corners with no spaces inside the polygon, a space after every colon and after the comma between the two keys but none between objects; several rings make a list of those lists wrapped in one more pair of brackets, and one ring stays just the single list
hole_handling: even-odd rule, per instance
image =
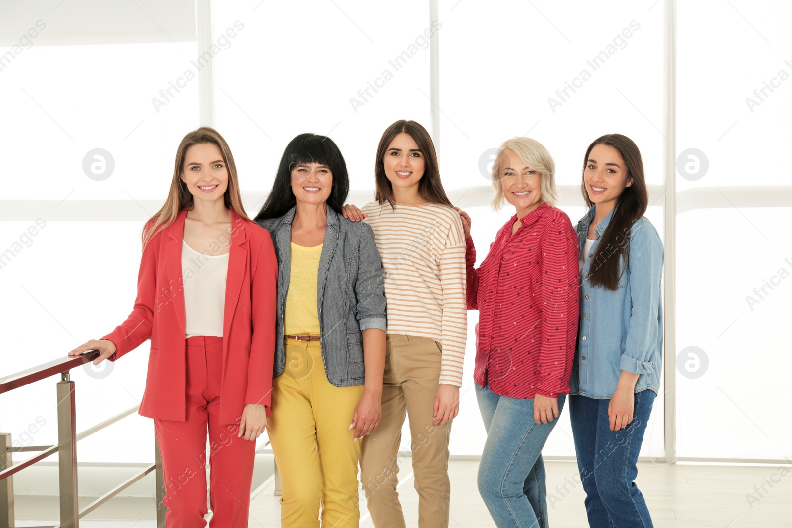
[{"label": "right-hand sleeve of the gray blazer, cuff rolled up", "polygon": [[355,281],[357,298],[357,321],[360,330],[386,330],[385,283],[383,261],[379,257],[374,239],[374,230],[360,223],[360,245],[358,245],[358,270]]}]

